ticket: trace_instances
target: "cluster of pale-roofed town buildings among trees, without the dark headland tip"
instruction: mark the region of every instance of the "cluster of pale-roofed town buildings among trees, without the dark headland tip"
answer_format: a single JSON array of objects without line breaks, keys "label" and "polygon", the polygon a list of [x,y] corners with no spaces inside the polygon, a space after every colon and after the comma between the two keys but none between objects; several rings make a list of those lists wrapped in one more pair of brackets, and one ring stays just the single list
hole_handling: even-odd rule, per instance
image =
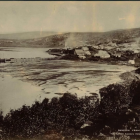
[{"label": "cluster of pale-roofed town buildings among trees, without the dark headland tip", "polygon": [[[127,61],[125,64],[139,65],[140,57],[138,51],[123,50],[123,47],[118,46],[116,43],[109,42],[108,44],[97,45],[81,45],[76,47],[65,46],[65,50],[68,50],[70,54],[77,56],[80,59],[86,58],[116,58],[116,60]],[[69,53],[67,53],[69,54]]]}]

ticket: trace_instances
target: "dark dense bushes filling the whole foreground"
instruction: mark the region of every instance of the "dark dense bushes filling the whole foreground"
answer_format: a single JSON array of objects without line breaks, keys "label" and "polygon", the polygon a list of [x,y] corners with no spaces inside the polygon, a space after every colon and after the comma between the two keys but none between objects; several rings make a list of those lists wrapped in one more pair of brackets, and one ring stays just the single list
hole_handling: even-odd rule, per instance
[{"label": "dark dense bushes filling the whole foreground", "polygon": [[96,93],[84,98],[65,93],[51,101],[44,99],[31,107],[11,110],[6,116],[1,112],[1,139],[105,139],[119,129],[138,130],[139,91],[140,80],[134,80],[127,86],[112,84],[102,88],[101,101]]}]

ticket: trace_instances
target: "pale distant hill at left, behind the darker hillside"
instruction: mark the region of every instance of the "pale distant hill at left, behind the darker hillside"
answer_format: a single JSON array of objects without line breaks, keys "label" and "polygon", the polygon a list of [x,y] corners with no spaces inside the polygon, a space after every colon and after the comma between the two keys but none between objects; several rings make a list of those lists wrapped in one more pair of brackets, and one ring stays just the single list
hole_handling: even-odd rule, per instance
[{"label": "pale distant hill at left, behind the darker hillside", "polygon": [[0,39],[33,39],[33,38],[41,38],[54,34],[57,34],[57,32],[33,31],[33,32],[23,32],[23,33],[10,33],[10,34],[0,34]]}]

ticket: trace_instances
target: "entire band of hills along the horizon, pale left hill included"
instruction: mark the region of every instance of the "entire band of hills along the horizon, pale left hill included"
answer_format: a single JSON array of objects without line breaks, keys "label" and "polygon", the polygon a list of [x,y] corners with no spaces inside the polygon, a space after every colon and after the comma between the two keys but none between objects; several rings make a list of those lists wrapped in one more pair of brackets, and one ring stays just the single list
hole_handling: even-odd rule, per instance
[{"label": "entire band of hills along the horizon, pale left hill included", "polygon": [[[9,40],[8,38],[10,38],[10,36],[11,39]],[[16,47],[64,48],[65,45],[68,47],[77,47],[85,44],[107,45],[110,42],[116,43],[117,45],[126,45],[126,43],[139,44],[140,28],[114,30],[109,32],[69,32],[61,34],[55,32],[42,32],[42,34],[40,34],[40,32],[31,32],[9,34],[5,35],[5,38],[0,35],[0,38],[3,38],[0,39],[0,46]]]}]

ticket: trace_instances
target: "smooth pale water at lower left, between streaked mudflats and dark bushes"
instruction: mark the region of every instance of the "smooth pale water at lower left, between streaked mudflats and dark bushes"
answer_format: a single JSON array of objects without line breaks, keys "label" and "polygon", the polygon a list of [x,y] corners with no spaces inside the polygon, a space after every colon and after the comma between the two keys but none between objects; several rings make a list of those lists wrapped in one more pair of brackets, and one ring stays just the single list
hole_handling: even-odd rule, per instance
[{"label": "smooth pale water at lower left, between streaked mudflats and dark bushes", "polygon": [[10,109],[17,109],[23,104],[31,105],[35,99],[39,99],[40,91],[39,87],[5,73],[0,76],[0,109],[5,115]]}]

